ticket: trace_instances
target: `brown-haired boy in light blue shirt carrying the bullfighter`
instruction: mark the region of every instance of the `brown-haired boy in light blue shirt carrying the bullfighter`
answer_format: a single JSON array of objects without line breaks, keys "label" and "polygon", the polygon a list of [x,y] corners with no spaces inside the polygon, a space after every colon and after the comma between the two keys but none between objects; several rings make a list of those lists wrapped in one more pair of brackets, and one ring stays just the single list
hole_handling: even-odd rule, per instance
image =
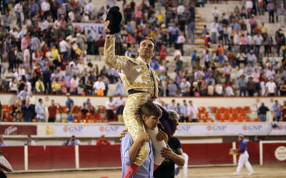
[{"label": "brown-haired boy in light blue shirt carrying the bullfighter", "polygon": [[[125,135],[125,137],[123,134],[123,138],[121,141],[120,151],[122,163],[122,178],[153,178],[154,150],[151,139],[149,138],[149,135],[146,133],[146,131],[155,130],[157,124],[159,123],[159,118],[162,115],[162,111],[153,103],[145,103],[140,108],[139,112],[144,123],[144,129],[140,131],[135,141],[132,140],[131,136],[128,133],[127,135]],[[162,134],[162,132],[159,132],[156,138],[157,140],[162,141],[167,139],[167,135]],[[144,142],[149,142],[150,151],[147,159],[139,167],[132,163],[134,162],[138,151]],[[129,168],[130,165],[132,169]],[[132,176],[134,172],[135,174]]]}]

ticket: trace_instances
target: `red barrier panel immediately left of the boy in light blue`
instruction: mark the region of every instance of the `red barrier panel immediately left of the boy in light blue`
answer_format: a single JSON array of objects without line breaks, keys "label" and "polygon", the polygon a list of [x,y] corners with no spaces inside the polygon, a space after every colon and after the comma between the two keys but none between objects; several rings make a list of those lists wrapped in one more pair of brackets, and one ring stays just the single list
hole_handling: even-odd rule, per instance
[{"label": "red barrier panel immediately left of the boy in light blue", "polygon": [[79,167],[120,167],[120,145],[79,146]]}]

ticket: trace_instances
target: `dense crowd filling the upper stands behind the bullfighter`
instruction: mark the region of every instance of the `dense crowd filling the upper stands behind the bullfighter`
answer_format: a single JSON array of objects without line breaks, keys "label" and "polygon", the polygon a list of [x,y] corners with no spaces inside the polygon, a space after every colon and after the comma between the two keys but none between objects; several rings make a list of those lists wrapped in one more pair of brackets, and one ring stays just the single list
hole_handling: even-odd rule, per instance
[{"label": "dense crowd filling the upper stands behind the bullfighter", "polygon": [[[122,30],[116,34],[116,53],[137,57],[138,41],[143,36],[156,40],[151,66],[160,78],[160,96],[285,95],[285,36],[279,29],[273,37],[274,45],[272,36],[267,35],[267,27],[255,20],[257,11],[259,14],[275,11],[280,16],[285,10],[279,10],[283,7],[278,0],[262,1],[259,10],[256,1],[252,6],[251,2],[247,0],[241,8],[235,7],[231,14],[220,13],[214,7],[211,30],[206,26],[203,29],[205,48],[203,51],[198,48],[188,57],[191,61],[188,68],[183,61],[186,57],[183,43],[187,39],[194,41],[195,9],[204,6],[204,1],[164,0],[161,5],[165,14],[155,13],[155,0],[149,0],[149,5],[144,0],[140,4],[124,1]],[[270,5],[273,2],[274,8]],[[7,6],[10,3],[4,0],[1,8],[0,58],[9,64],[8,69],[0,72],[1,92],[106,96],[109,84],[116,83],[113,95],[125,94],[117,71],[107,67],[99,69],[86,61],[87,54],[99,54],[102,58],[105,32],[95,36],[72,25],[73,22],[103,23],[106,9],[116,4],[114,0],[108,0],[107,8],[98,11],[91,0],[16,0],[12,5],[14,12]],[[18,27],[11,29],[15,15]],[[250,18],[251,29],[247,29],[246,18]],[[131,25],[134,22],[136,28]],[[124,42],[126,51],[121,50]],[[170,47],[176,49],[174,61],[166,60]],[[282,60],[277,57],[281,51]],[[169,70],[173,63],[174,78]]]}]

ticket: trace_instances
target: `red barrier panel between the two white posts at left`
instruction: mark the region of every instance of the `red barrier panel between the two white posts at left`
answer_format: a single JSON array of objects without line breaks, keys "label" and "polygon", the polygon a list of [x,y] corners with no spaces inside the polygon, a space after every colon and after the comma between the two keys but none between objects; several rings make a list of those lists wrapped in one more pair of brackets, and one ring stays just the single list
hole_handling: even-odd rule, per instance
[{"label": "red barrier panel between the two white posts at left", "polygon": [[29,170],[75,168],[74,146],[29,146]]}]

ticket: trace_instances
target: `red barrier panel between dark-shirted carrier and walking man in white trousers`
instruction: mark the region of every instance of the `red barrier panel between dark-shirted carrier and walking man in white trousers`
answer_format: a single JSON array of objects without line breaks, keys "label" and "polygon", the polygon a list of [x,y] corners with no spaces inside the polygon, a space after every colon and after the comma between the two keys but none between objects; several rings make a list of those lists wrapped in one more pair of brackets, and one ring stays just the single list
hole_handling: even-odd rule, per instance
[{"label": "red barrier panel between dark-shirted carrier and walking man in white trousers", "polygon": [[182,144],[183,152],[189,156],[189,165],[232,164],[228,154],[232,143]]}]

